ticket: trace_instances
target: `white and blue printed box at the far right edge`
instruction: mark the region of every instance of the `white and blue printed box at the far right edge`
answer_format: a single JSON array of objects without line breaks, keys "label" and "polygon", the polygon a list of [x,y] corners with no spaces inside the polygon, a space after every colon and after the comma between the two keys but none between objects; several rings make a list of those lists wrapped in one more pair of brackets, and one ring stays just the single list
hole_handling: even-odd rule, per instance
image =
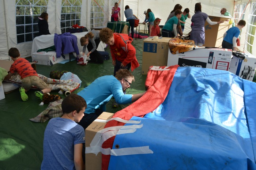
[{"label": "white and blue printed box at the far right edge", "polygon": [[243,79],[252,81],[256,69],[256,57],[249,53],[242,54],[245,56],[244,60],[232,56],[229,71]]}]

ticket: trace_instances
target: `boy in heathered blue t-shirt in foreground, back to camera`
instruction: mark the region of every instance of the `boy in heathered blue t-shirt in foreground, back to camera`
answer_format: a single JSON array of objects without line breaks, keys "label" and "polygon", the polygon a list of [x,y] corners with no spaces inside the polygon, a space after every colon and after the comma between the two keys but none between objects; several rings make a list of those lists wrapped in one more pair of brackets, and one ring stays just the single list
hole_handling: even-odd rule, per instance
[{"label": "boy in heathered blue t-shirt in foreground, back to camera", "polygon": [[87,107],[81,96],[71,93],[61,103],[63,116],[52,118],[44,133],[41,170],[84,170],[84,128],[77,124]]}]

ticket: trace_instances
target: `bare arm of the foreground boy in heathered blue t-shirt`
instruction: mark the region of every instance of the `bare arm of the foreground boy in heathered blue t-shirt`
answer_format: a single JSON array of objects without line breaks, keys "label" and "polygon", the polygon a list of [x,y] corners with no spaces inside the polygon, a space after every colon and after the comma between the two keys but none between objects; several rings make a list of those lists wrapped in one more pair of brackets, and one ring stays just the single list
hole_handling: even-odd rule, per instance
[{"label": "bare arm of the foreground boy in heathered blue t-shirt", "polygon": [[84,170],[83,156],[82,156],[83,144],[75,144],[74,146],[74,164],[76,170]]}]

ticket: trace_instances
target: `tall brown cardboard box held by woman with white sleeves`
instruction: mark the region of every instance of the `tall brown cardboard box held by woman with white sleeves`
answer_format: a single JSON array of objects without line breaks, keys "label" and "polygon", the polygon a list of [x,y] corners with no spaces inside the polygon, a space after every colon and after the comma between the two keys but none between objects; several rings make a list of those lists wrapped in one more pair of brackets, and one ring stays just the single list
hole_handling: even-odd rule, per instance
[{"label": "tall brown cardboard box held by woman with white sleeves", "polygon": [[[217,47],[222,48],[223,34],[232,27],[232,23],[229,22],[231,19],[229,16],[208,16],[211,21],[221,21],[225,22],[221,24],[210,25],[207,21],[204,24],[205,32],[205,47]],[[228,21],[226,21],[228,20]]]}]

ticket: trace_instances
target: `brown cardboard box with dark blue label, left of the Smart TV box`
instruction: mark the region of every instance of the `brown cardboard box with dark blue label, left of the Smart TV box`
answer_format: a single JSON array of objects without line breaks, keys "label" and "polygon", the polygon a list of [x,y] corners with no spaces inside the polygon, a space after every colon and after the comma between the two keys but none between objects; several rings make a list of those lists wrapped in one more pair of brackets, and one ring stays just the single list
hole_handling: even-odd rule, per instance
[{"label": "brown cardboard box with dark blue label, left of the Smart TV box", "polygon": [[153,39],[148,37],[143,41],[142,52],[142,74],[146,75],[150,66],[166,66],[169,51],[169,40],[171,38],[159,37]]}]

